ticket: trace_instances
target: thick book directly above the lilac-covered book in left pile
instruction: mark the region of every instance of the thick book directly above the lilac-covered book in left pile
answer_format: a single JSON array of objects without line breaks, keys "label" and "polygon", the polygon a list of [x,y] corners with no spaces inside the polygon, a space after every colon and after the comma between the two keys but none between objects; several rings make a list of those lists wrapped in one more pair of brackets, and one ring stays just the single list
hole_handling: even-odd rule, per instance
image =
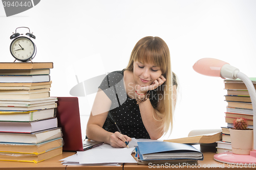
[{"label": "thick book directly above the lilac-covered book in left pile", "polygon": [[0,111],[2,122],[33,122],[56,116],[56,108],[33,111]]}]

